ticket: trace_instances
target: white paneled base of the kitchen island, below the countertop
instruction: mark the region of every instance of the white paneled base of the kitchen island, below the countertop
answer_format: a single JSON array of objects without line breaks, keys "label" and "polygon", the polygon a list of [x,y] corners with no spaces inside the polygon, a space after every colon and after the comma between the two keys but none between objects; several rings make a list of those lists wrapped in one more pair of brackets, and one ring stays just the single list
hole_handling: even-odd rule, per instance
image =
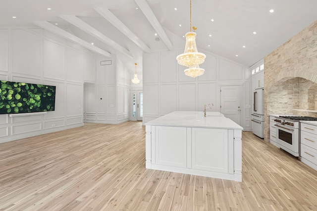
[{"label": "white paneled base of the kitchen island, below the countertop", "polygon": [[242,131],[146,125],[146,168],[242,181]]}]

